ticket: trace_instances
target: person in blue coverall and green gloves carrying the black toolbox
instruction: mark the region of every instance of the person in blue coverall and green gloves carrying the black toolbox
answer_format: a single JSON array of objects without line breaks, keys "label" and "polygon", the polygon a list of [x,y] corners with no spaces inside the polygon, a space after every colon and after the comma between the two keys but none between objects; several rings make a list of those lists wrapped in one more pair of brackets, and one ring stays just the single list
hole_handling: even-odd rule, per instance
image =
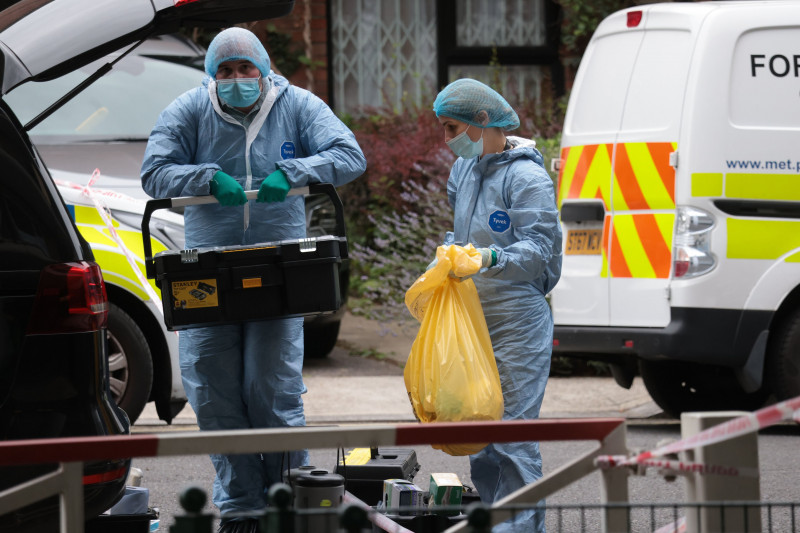
[{"label": "person in blue coverall and green gloves carrying the black toolbox", "polygon": [[[366,168],[353,133],[314,94],[270,70],[250,31],[229,28],[209,45],[208,77],[159,116],[142,186],[154,198],[213,194],[187,206],[186,247],[255,244],[306,236],[302,195],[311,183],[344,185]],[[258,189],[248,201],[245,190]],[[288,295],[291,298],[291,295]],[[202,327],[180,333],[180,366],[201,430],[305,425],[303,318]],[[241,515],[263,512],[282,469],[307,451],[212,455],[220,531],[255,531]],[[236,516],[240,515],[240,516]]]}]

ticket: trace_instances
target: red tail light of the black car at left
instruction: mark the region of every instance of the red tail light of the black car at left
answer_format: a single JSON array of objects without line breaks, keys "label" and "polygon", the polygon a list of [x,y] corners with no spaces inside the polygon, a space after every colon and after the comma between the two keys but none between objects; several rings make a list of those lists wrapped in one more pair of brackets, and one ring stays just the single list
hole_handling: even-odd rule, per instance
[{"label": "red tail light of the black car at left", "polygon": [[96,331],[108,322],[108,296],[96,263],[46,266],[28,323],[29,334]]}]

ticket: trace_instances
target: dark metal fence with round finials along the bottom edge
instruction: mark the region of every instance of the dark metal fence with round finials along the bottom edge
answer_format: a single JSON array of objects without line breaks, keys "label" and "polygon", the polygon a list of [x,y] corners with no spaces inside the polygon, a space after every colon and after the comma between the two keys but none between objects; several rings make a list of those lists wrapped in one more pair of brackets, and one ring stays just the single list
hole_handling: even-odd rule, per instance
[{"label": "dark metal fence with round finials along the bottom edge", "polygon": [[[169,533],[211,533],[215,518],[200,511],[205,503],[205,492],[197,487],[187,489],[181,496],[181,505],[186,511],[174,517],[174,525]],[[398,507],[393,509],[395,520],[402,516],[402,523],[386,518],[380,510],[363,503],[345,503],[336,508],[295,509],[290,505],[291,488],[277,484],[270,490],[272,507],[263,515],[250,516],[259,520],[260,533],[363,533],[364,531],[387,531],[407,533],[425,531],[442,533],[447,524],[464,523],[466,533],[488,533],[492,516],[513,517],[530,509],[528,505],[507,505],[503,508],[489,508],[479,503],[469,506],[440,506],[437,512],[446,516],[442,520],[418,520],[411,526],[412,519],[434,518],[418,507]],[[349,498],[352,501],[352,497]],[[713,528],[700,526],[696,533],[798,533],[800,532],[800,502],[703,502],[703,503],[606,503],[576,505],[546,505],[548,532],[550,533],[593,533],[603,529],[604,516],[610,511],[625,516],[625,533],[677,533],[687,531],[687,517],[694,517],[702,524],[701,515],[715,515],[717,524]],[[423,514],[424,513],[424,514]],[[453,516],[453,515],[456,516]],[[381,522],[379,519],[383,518]],[[756,518],[759,525],[748,527]],[[313,523],[313,527],[309,527]],[[406,526],[402,525],[403,523]],[[443,525],[445,524],[445,525]],[[760,526],[760,527],[759,527]],[[409,529],[409,527],[414,527]]]}]

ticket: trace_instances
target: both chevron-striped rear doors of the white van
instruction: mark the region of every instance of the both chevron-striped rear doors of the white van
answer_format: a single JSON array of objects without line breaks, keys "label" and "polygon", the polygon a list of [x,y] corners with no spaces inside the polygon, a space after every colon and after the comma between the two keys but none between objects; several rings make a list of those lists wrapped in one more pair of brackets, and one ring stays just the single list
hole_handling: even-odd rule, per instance
[{"label": "both chevron-striped rear doors of the white van", "polygon": [[562,136],[558,198],[566,240],[552,294],[556,324],[669,323],[671,154],[692,24],[674,8],[622,11],[598,27],[584,55]]}]

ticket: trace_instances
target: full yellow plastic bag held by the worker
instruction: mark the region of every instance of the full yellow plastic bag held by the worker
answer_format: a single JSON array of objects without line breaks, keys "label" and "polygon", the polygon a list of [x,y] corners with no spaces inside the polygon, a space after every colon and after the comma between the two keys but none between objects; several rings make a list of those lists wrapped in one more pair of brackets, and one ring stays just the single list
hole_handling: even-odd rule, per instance
[{"label": "full yellow plastic bag held by the worker", "polygon": [[[478,291],[471,279],[481,268],[474,246],[440,246],[436,266],[406,292],[408,310],[420,321],[403,377],[421,422],[500,420],[503,391]],[[486,444],[433,445],[469,455]]]}]

